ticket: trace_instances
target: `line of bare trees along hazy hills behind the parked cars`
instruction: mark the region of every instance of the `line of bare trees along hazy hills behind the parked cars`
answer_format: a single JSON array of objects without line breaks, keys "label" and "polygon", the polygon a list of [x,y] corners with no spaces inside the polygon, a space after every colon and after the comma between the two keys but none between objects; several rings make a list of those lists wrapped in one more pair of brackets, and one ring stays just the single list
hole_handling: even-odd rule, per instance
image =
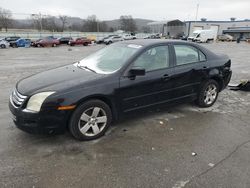
[{"label": "line of bare trees along hazy hills behind the parked cars", "polygon": [[35,29],[38,31],[81,31],[81,32],[113,32],[124,30],[126,32],[136,32],[138,28],[136,22],[130,15],[123,15],[119,18],[117,27],[110,27],[105,21],[99,20],[96,15],[88,16],[86,19],[79,19],[73,22],[72,17],[67,15],[51,16],[42,14],[31,14],[25,20],[13,19],[12,12],[0,7],[0,31],[15,29]]}]

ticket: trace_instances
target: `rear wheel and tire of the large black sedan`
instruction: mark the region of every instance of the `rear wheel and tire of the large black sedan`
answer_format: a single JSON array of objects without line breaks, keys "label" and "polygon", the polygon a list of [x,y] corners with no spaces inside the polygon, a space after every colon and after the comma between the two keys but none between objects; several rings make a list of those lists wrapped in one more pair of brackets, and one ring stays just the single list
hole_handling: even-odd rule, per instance
[{"label": "rear wheel and tire of the large black sedan", "polygon": [[212,106],[219,94],[219,84],[215,80],[203,82],[198,93],[197,104],[202,108]]}]

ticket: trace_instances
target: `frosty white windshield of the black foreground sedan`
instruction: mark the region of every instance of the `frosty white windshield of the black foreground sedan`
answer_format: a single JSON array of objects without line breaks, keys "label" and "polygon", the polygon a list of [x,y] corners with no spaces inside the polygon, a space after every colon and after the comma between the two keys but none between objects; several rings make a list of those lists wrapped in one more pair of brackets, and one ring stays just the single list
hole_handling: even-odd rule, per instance
[{"label": "frosty white windshield of the black foreground sedan", "polygon": [[112,74],[141,47],[134,44],[114,44],[84,58],[77,66],[99,74]]}]

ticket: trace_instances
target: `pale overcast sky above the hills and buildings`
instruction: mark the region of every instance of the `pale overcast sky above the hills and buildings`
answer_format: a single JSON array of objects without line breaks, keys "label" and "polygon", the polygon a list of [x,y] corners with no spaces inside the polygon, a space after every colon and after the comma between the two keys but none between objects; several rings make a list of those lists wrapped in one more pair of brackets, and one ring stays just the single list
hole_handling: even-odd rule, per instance
[{"label": "pale overcast sky above the hills and buildings", "polygon": [[[198,19],[250,19],[250,0],[0,0],[0,7],[13,13],[68,15],[86,18],[95,14],[100,20],[132,15],[152,20],[194,20],[199,3]],[[13,17],[28,17],[13,14]]]}]

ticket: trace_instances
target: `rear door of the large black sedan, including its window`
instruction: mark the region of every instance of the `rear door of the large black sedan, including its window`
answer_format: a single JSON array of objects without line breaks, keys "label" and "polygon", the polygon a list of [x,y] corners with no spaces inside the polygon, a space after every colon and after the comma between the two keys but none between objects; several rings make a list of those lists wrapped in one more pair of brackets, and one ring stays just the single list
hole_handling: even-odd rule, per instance
[{"label": "rear door of the large black sedan, including its window", "polygon": [[206,57],[192,45],[174,44],[172,50],[175,54],[173,94],[176,98],[195,97],[209,68]]}]

